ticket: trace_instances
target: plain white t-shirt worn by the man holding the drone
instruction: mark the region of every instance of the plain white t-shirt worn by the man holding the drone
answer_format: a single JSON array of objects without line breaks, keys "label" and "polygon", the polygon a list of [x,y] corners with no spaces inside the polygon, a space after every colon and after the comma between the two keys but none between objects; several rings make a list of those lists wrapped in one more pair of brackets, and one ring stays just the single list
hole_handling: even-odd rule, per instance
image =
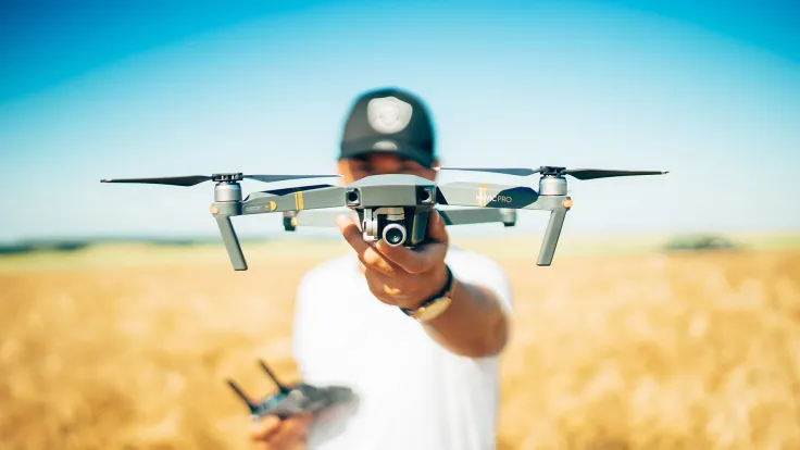
[{"label": "plain white t-shirt worn by the man holding the drone", "polygon": [[[446,262],[511,312],[511,287],[495,261],[451,246]],[[498,358],[460,357],[438,345],[372,295],[354,252],[303,277],[293,334],[305,383],[348,386],[357,396],[313,422],[309,450],[495,449]]]}]

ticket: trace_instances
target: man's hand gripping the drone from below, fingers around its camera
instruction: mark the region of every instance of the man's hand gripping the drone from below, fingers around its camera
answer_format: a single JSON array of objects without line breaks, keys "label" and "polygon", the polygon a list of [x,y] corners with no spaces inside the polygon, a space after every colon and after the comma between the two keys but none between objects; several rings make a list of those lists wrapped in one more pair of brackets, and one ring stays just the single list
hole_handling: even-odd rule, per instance
[{"label": "man's hand gripping the drone from below, fingers around its camera", "polygon": [[359,226],[348,216],[337,218],[345,239],[355,250],[370,290],[387,304],[417,308],[445,287],[449,238],[447,225],[436,210],[432,210],[427,226],[428,242],[408,249],[365,241]]}]

